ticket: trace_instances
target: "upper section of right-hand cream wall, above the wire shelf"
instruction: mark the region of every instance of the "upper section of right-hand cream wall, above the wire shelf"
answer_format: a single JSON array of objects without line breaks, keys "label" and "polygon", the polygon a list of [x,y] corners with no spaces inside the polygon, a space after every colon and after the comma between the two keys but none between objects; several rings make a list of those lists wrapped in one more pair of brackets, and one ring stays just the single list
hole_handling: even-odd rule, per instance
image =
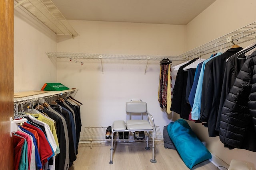
[{"label": "upper section of right-hand cream wall, above the wire shelf", "polygon": [[186,25],[186,51],[256,21],[255,0],[216,0]]}]

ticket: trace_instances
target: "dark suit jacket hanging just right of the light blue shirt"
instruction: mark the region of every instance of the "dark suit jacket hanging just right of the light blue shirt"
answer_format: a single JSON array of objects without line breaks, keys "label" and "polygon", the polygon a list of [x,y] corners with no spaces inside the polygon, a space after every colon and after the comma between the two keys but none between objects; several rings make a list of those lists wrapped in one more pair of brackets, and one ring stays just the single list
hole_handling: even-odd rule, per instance
[{"label": "dark suit jacket hanging just right of the light blue shirt", "polygon": [[202,83],[202,97],[200,121],[207,123],[210,137],[216,137],[218,132],[215,131],[222,82],[226,68],[226,59],[238,53],[243,48],[231,48],[221,55],[214,57],[205,64],[204,77]]}]

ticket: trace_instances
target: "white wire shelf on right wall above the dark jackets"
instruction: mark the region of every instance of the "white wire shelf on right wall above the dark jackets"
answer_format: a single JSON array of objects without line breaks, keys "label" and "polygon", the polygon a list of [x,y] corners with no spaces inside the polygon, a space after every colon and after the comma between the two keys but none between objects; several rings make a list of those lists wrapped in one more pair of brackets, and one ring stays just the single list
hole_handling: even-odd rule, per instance
[{"label": "white wire shelf on right wall above the dark jackets", "polygon": [[218,51],[218,49],[223,49],[225,47],[230,48],[234,44],[245,43],[253,39],[256,39],[256,22],[214,39],[204,45],[183,53],[178,57],[182,57],[184,59],[188,59],[189,57],[195,58],[198,57],[199,54],[201,56],[207,55]]}]

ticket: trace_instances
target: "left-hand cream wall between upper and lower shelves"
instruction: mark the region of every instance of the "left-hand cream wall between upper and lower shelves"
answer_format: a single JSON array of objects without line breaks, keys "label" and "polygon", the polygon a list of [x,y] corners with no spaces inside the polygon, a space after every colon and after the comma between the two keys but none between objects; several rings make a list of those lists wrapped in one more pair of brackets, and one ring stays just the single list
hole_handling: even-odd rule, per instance
[{"label": "left-hand cream wall between upper and lower shelves", "polygon": [[57,36],[21,8],[14,10],[14,92],[40,90],[56,82],[56,62],[46,51],[57,50]]}]

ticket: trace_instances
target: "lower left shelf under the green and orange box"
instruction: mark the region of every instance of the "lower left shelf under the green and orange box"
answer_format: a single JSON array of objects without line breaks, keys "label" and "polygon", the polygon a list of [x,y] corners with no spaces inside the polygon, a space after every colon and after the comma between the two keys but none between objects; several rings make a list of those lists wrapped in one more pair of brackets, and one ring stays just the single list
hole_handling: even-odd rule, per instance
[{"label": "lower left shelf under the green and orange box", "polygon": [[26,96],[26,97],[22,97],[22,98],[14,98],[14,103],[26,103],[26,102],[30,102],[30,101],[36,101],[36,100],[55,97],[55,96],[65,96],[65,95],[70,96],[71,94],[73,94],[73,96],[75,96],[77,91],[78,91],[78,89],[50,91],[47,93]]}]

